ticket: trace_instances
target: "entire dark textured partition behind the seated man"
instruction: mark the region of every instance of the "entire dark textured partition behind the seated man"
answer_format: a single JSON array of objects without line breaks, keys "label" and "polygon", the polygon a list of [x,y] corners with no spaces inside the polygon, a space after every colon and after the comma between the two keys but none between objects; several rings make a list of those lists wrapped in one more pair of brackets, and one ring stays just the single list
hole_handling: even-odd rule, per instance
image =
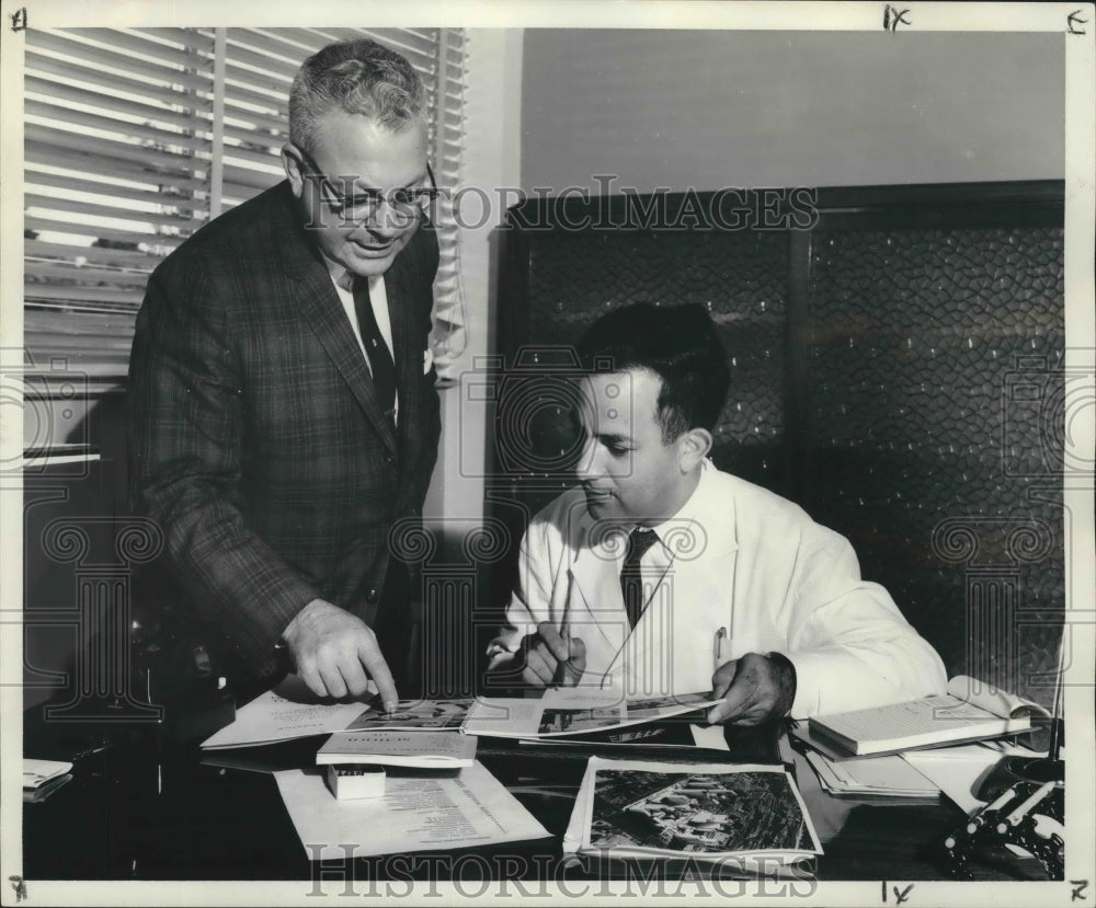
[{"label": "entire dark textured partition behind the seated man", "polygon": [[566,371],[567,346],[614,307],[699,302],[732,372],[717,464],[847,536],[949,674],[1049,704],[1069,520],[1062,184],[818,199],[801,231],[575,231],[560,225],[581,204],[514,209],[488,510],[516,537],[572,481],[545,364]]}]

